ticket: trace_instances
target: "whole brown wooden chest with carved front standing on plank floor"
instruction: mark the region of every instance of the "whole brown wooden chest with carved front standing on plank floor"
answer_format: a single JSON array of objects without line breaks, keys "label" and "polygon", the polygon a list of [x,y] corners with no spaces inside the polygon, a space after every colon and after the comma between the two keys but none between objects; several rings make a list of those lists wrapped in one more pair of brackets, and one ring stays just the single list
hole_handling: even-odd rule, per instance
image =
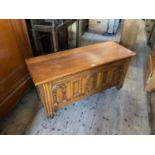
[{"label": "whole brown wooden chest with carved front standing on plank floor", "polygon": [[26,60],[47,116],[101,90],[121,88],[135,53],[105,42]]}]

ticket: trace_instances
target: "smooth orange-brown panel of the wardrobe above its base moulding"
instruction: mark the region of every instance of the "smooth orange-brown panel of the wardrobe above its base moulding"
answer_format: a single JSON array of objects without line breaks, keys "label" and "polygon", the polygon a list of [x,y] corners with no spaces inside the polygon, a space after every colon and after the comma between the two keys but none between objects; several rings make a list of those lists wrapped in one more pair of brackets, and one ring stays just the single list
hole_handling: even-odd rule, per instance
[{"label": "smooth orange-brown panel of the wardrobe above its base moulding", "polygon": [[23,35],[21,38],[16,31],[23,25],[22,20],[0,20],[0,101],[28,76],[24,61],[26,57],[32,56],[31,53],[29,54],[31,49],[27,50],[26,41],[25,44],[21,42],[21,38],[24,38],[24,30],[21,31],[20,35]]}]

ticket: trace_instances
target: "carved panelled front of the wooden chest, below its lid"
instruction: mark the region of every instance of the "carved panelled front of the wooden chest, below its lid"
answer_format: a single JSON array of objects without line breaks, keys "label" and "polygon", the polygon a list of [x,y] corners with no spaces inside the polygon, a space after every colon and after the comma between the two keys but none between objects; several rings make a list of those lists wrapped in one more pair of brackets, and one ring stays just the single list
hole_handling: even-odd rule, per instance
[{"label": "carved panelled front of the wooden chest, below its lid", "polygon": [[[40,90],[42,85],[48,85],[49,89],[46,91],[49,91],[51,97],[51,99],[46,99],[51,101],[48,104],[55,108],[62,108],[101,90],[118,86],[124,76],[123,71],[126,62],[126,60],[121,60],[109,63],[63,79],[48,82],[48,84],[41,84],[38,88]],[[44,91],[44,89],[41,91]],[[44,94],[47,94],[47,92]],[[46,101],[44,100],[43,104],[44,102]]]}]

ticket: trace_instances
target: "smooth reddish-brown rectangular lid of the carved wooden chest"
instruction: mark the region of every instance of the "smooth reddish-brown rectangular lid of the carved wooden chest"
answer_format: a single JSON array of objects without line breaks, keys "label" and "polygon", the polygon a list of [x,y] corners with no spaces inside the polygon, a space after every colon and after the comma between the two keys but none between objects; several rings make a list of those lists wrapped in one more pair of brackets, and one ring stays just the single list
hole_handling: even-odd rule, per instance
[{"label": "smooth reddish-brown rectangular lid of the carved wooden chest", "polygon": [[114,43],[104,42],[26,59],[35,85],[134,56]]}]

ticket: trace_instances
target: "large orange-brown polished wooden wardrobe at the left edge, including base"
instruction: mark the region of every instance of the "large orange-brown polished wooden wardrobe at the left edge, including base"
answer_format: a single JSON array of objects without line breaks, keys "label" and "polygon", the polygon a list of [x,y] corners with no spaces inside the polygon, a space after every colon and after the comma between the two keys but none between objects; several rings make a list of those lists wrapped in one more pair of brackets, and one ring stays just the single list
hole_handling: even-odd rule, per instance
[{"label": "large orange-brown polished wooden wardrobe at the left edge, including base", "polygon": [[25,20],[0,20],[0,118],[32,84],[25,58],[32,57]]}]

